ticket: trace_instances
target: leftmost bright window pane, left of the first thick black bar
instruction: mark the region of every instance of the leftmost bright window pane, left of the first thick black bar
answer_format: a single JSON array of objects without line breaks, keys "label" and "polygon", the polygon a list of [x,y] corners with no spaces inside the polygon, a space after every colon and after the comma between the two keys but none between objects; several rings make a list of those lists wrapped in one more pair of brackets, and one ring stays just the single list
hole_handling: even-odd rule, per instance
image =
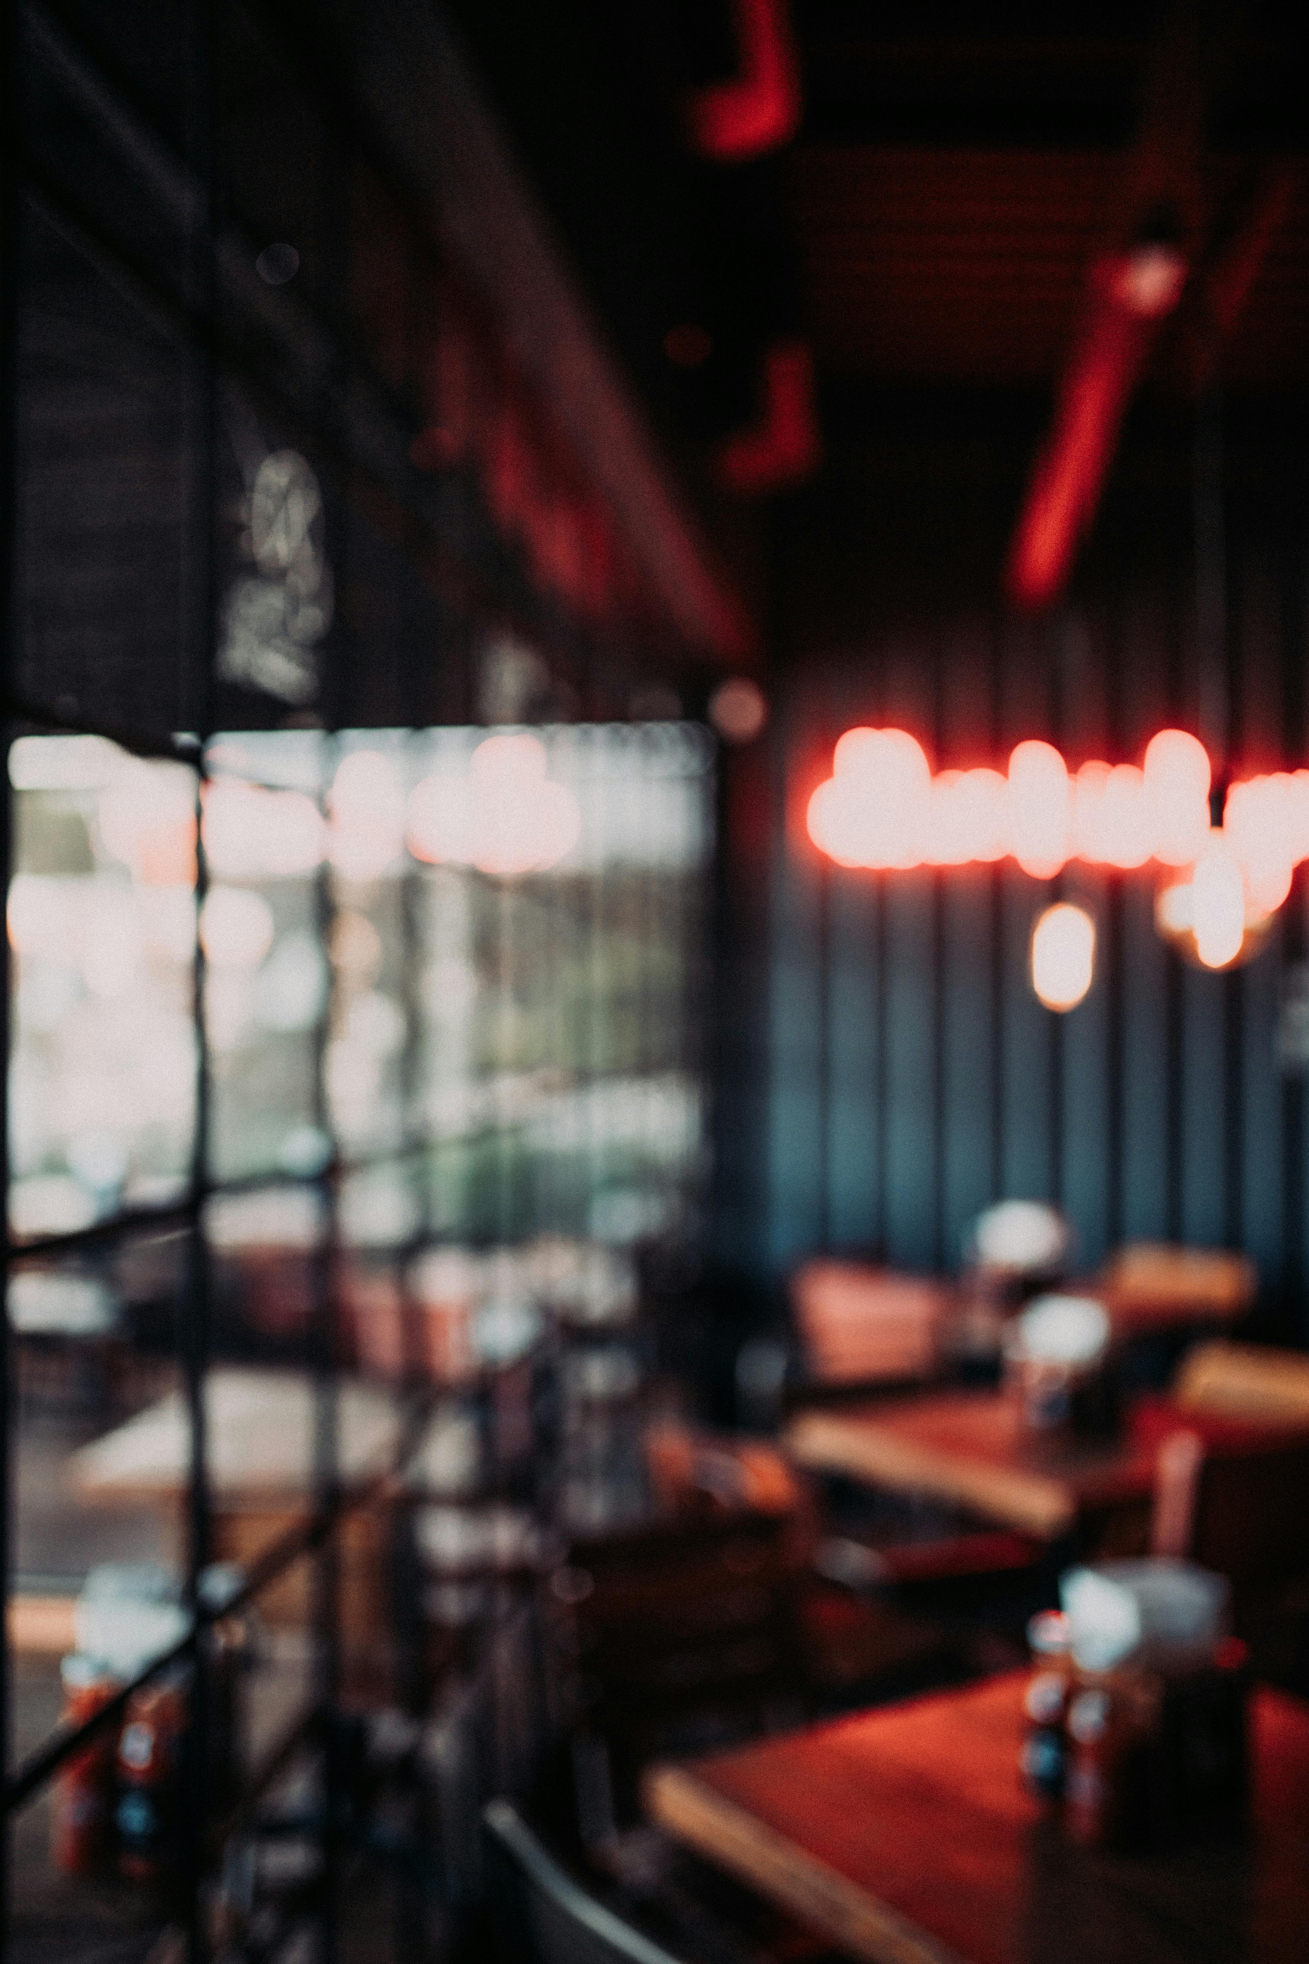
[{"label": "leftmost bright window pane, left of the first thick black bar", "polygon": [[10,1224],[175,1200],[194,1131],[194,772],[98,736],[10,752]]}]

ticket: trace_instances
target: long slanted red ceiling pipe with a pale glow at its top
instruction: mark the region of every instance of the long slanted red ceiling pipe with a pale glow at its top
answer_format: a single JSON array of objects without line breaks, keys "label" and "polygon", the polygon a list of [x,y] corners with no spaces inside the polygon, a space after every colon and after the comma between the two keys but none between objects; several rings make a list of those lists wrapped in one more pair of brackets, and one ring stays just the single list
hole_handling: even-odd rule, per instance
[{"label": "long slanted red ceiling pipe with a pale glow at its top", "polygon": [[1054,426],[1036,456],[1009,548],[1005,589],[1015,605],[1046,607],[1062,589],[1095,517],[1123,410],[1183,281],[1185,261],[1168,246],[1095,261]]}]

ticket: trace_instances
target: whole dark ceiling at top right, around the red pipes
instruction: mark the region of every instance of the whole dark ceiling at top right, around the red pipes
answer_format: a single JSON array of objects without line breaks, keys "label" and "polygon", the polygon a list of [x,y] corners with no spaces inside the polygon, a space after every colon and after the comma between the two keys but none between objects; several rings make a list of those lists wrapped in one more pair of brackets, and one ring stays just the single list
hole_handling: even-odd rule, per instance
[{"label": "whole dark ceiling at top right, around the red pipes", "polygon": [[[1297,393],[1309,385],[1305,57],[1282,10],[1201,14],[1201,110],[1179,132],[1195,136],[1199,224],[1221,236],[1268,159],[1295,159],[1223,381]],[[793,0],[799,137],[724,167],[689,155],[683,104],[730,73],[730,0],[455,0],[455,16],[675,446],[748,414],[758,350],[781,332],[811,340],[820,381],[1048,393],[1168,29],[1140,6]],[[1164,96],[1164,128],[1168,116]],[[663,354],[685,320],[712,338],[695,373]],[[1168,340],[1156,381],[1176,367]]]}]

